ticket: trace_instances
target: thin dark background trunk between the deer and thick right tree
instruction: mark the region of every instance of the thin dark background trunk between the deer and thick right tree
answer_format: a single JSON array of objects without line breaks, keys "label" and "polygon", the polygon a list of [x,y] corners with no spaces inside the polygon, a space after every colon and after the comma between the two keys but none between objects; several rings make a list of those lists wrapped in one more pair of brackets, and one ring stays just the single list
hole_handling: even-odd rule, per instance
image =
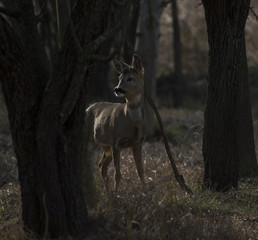
[{"label": "thin dark background trunk between the deer and thick right tree", "polygon": [[174,108],[182,105],[182,57],[181,57],[181,40],[180,40],[180,26],[178,21],[177,1],[171,0],[172,3],[172,19],[173,19],[173,39],[174,39],[174,63],[175,63],[175,77],[173,79],[173,105]]}]

